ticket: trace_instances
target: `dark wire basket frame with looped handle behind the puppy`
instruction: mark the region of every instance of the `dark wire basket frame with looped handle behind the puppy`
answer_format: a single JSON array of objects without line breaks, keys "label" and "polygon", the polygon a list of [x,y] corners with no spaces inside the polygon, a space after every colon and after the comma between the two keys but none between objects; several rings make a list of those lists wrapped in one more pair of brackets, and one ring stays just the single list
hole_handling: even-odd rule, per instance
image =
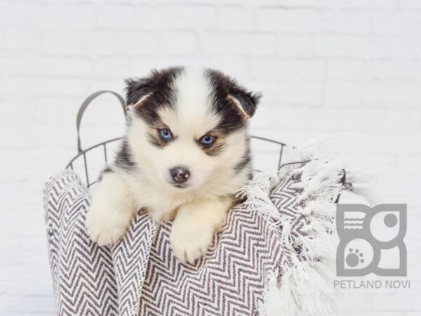
[{"label": "dark wire basket frame with looped handle behind the puppy", "polygon": [[[126,102],[125,102],[124,98],[119,95],[119,93],[115,93],[114,91],[97,91],[97,92],[91,94],[91,96],[88,96],[88,98],[86,98],[86,100],[83,101],[81,107],[79,108],[79,112],[77,113],[77,117],[76,117],[77,150],[78,150],[78,152],[77,152],[76,156],[74,156],[72,159],[70,159],[70,161],[67,163],[66,169],[74,170],[74,164],[81,160],[82,166],[83,166],[83,169],[84,169],[84,173],[85,173],[85,180],[86,180],[86,186],[87,187],[91,187],[91,185],[95,184],[98,181],[99,175],[95,178],[95,180],[90,179],[89,172],[88,172],[89,171],[89,164],[88,164],[88,159],[86,157],[86,154],[88,152],[91,152],[92,150],[95,150],[95,148],[102,147],[104,159],[102,160],[102,162],[99,162],[99,163],[102,164],[105,167],[109,163],[109,152],[108,152],[108,150],[109,150],[110,145],[119,143],[119,141],[122,139],[122,137],[112,138],[112,139],[109,139],[109,140],[105,140],[101,143],[98,143],[96,145],[93,145],[91,147],[88,147],[86,149],[82,149],[81,137],[80,137],[80,126],[81,126],[81,120],[82,120],[82,117],[83,117],[83,113],[85,112],[88,105],[90,105],[91,102],[95,98],[97,98],[98,96],[100,96],[104,93],[111,93],[113,96],[115,96],[119,100],[121,108],[124,112],[124,116],[126,117]],[[257,140],[259,142],[264,142],[266,144],[269,144],[271,146],[276,147],[276,150],[279,154],[279,156],[276,159],[277,160],[276,168],[279,168],[279,166],[281,166],[281,162],[282,162],[283,149],[286,146],[286,144],[281,143],[277,140],[272,140],[272,139],[264,138],[264,137],[260,137],[260,136],[251,136],[251,138],[253,140]],[[95,162],[95,166],[98,166],[98,162]]]}]

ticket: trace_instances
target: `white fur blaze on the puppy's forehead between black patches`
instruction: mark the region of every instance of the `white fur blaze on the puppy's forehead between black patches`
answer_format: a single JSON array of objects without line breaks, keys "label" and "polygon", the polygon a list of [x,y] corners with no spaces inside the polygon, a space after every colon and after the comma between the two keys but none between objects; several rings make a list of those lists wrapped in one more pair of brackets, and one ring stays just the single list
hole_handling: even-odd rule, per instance
[{"label": "white fur blaze on the puppy's forehead between black patches", "polygon": [[[220,118],[212,111],[212,86],[200,67],[186,67],[175,79],[177,114],[183,124],[192,129],[213,129]],[[206,132],[206,131],[205,131]]]}]

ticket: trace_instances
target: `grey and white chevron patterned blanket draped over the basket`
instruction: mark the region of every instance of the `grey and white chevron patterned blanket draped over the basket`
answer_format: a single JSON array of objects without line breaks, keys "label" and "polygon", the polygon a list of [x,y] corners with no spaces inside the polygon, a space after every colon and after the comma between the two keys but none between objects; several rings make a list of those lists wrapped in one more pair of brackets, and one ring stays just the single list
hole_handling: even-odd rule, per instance
[{"label": "grey and white chevron patterned blanket draped over the basket", "polygon": [[[299,180],[299,179],[298,179]],[[293,236],[306,225],[295,176],[270,192]],[[84,228],[88,190],[73,171],[44,190],[48,250],[58,315],[258,315],[267,275],[290,264],[279,228],[240,204],[227,216],[206,257],[180,263],[168,242],[171,223],[139,213],[125,237],[99,247]]]}]

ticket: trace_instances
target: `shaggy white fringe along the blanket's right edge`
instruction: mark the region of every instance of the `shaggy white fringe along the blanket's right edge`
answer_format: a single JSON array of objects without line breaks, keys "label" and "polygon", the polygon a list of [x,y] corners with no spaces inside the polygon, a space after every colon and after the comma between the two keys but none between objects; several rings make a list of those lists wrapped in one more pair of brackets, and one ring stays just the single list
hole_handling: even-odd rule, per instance
[{"label": "shaggy white fringe along the blanket's right edge", "polygon": [[[361,185],[368,178],[349,171],[342,164],[338,148],[332,142],[313,141],[300,151],[294,150],[289,158],[290,162],[306,164],[286,164],[276,176],[259,173],[239,192],[242,197],[247,197],[248,207],[259,211],[276,226],[283,246],[295,254],[288,258],[291,265],[281,267],[282,275],[269,273],[260,315],[333,315],[338,297],[333,288],[338,245],[335,200],[345,190],[341,183],[343,169],[346,170],[347,183],[352,183],[349,189],[373,202],[368,185]],[[269,199],[271,188],[291,172],[300,178],[295,189],[300,191],[299,202],[304,205],[302,213],[308,224],[305,227],[307,235],[298,239],[290,234],[290,220],[282,216]],[[302,246],[300,254],[293,248],[298,244]]]}]

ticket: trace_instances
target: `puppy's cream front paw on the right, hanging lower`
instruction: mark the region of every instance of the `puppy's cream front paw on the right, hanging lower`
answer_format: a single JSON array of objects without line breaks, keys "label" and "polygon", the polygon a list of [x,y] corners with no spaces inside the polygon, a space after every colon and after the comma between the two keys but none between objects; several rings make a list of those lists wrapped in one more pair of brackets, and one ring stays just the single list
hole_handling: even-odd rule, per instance
[{"label": "puppy's cream front paw on the right, hanging lower", "polygon": [[213,229],[202,225],[192,226],[175,220],[171,229],[170,243],[174,255],[182,263],[194,264],[206,255],[213,240]]}]

